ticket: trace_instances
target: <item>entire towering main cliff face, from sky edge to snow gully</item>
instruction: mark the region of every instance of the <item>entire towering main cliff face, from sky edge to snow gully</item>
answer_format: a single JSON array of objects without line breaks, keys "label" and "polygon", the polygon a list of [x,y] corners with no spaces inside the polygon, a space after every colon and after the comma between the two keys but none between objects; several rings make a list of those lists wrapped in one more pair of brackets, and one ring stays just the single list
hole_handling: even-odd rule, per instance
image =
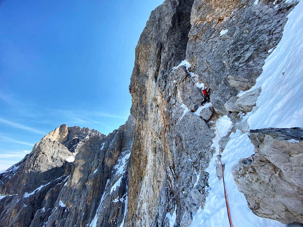
[{"label": "entire towering main cliff face, from sky edge to snow gully", "polygon": [[211,88],[214,115],[228,114],[224,104],[255,84],[294,5],[254,2],[167,0],[151,13],[129,87],[138,124],[126,226],[169,226],[174,212],[175,225],[188,226],[204,207],[215,135],[195,108],[198,82]]}]

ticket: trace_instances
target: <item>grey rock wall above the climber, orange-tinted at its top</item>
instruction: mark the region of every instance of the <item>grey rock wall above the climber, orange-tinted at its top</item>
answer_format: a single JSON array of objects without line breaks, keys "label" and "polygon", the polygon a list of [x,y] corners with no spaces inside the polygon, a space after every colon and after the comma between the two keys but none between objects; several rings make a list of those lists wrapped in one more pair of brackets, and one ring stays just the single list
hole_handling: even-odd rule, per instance
[{"label": "grey rock wall above the climber, orange-tinted at its top", "polygon": [[268,50],[281,40],[293,3],[273,1],[198,1],[191,10],[186,59],[198,79],[211,88],[216,112],[227,114],[225,102],[248,90],[261,74]]}]

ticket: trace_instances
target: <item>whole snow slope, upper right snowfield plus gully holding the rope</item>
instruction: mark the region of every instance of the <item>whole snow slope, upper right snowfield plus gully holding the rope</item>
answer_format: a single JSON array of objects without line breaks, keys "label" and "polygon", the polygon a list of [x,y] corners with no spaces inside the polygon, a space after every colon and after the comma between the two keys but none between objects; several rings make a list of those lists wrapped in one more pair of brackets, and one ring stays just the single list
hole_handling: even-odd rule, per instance
[{"label": "whole snow slope, upper right snowfield plus gully holding the rope", "polygon": [[[258,109],[243,117],[250,129],[267,127],[303,127],[303,1],[299,2],[288,15],[283,36],[274,51],[265,60],[262,74],[250,90],[262,87],[257,100]],[[284,76],[282,72],[285,72]],[[247,92],[247,91],[246,91]],[[245,92],[244,92],[245,93]],[[239,94],[241,96],[242,94]],[[223,119],[225,118],[225,121]],[[217,122],[221,137],[224,136],[228,124],[226,116]],[[221,131],[220,131],[221,130]],[[222,133],[222,134],[221,134]],[[254,153],[248,133],[239,130],[231,133],[231,139],[222,153],[221,161],[225,163],[225,185],[231,218],[234,227],[281,227],[280,222],[260,218],[254,215],[247,206],[242,193],[233,181],[231,167],[240,158],[247,158]],[[190,226],[222,226],[228,227],[228,216],[225,205],[222,180],[215,175],[215,156],[218,154],[218,137],[213,140],[216,153],[206,169],[209,176],[209,195],[204,209],[198,209]]]}]

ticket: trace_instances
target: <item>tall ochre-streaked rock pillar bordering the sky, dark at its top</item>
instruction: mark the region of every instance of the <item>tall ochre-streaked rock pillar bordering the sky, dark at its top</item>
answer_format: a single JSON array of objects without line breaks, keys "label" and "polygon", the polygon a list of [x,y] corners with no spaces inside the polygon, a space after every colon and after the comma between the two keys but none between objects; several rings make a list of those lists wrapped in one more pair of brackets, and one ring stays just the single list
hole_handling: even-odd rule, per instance
[{"label": "tall ochre-streaked rock pillar bordering the sky, dark at its top", "polygon": [[[185,58],[193,1],[165,1],[151,12],[135,51],[129,87],[137,119],[129,168],[128,226],[150,226],[171,163],[163,75]],[[160,85],[159,85],[160,84]]]}]

